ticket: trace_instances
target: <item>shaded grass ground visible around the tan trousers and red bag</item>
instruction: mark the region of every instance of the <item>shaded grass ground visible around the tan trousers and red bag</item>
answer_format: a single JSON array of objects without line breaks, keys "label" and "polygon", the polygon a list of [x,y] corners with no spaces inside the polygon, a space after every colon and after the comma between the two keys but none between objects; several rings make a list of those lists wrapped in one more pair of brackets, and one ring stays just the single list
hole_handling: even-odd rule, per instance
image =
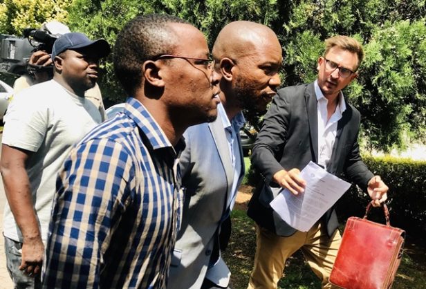
[{"label": "shaded grass ground visible around the tan trousers and red bag", "polygon": [[[246,214],[246,206],[252,187],[242,186],[244,198],[237,199],[232,211],[232,236],[225,251],[224,259],[232,272],[234,289],[247,288],[248,277],[252,270],[256,249],[254,223]],[[242,201],[241,201],[242,200]],[[341,228],[341,232],[343,227]],[[405,253],[393,289],[426,288],[426,250],[407,236]],[[368,270],[368,268],[366,268]],[[301,252],[297,252],[286,264],[285,278],[279,282],[279,288],[316,289],[321,283],[304,262]]]}]

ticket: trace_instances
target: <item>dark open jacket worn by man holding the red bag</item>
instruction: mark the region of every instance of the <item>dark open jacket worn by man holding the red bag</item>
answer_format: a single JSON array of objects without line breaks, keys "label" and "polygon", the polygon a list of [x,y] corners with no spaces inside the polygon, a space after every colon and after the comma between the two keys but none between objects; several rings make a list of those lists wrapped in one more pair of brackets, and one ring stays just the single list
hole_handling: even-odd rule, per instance
[{"label": "dark open jacket worn by man holding the red bag", "polygon": [[[337,135],[327,171],[337,177],[342,174],[362,189],[373,174],[362,162],[358,146],[360,112],[346,102],[346,111],[337,122]],[[275,197],[269,186],[272,176],[282,168],[302,170],[318,158],[317,98],[314,84],[282,88],[274,97],[263,126],[252,150],[252,164],[261,173],[262,180],[250,200],[248,216],[261,227],[279,236],[296,232],[282,221],[269,203]],[[323,216],[328,235],[337,229],[334,207]]]}]

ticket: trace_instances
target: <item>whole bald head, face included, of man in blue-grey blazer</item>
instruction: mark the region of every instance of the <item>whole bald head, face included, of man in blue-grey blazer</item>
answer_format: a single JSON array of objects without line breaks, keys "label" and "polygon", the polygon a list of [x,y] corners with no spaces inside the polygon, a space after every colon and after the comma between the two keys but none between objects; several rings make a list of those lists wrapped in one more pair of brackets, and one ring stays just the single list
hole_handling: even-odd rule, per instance
[{"label": "whole bald head, face included, of man in blue-grey blazer", "polygon": [[250,21],[231,22],[219,32],[212,52],[228,115],[264,111],[280,84],[282,50],[275,32]]}]

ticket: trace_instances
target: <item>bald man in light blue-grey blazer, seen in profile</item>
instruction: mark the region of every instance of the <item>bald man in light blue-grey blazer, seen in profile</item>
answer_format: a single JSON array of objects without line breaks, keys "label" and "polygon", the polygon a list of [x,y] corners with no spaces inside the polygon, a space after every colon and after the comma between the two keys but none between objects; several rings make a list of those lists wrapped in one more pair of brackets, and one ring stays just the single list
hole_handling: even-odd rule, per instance
[{"label": "bald man in light blue-grey blazer, seen in profile", "polygon": [[280,84],[281,46],[266,26],[232,22],[212,51],[214,73],[221,75],[221,104],[214,122],[190,127],[184,135],[183,221],[168,288],[228,288],[230,270],[221,248],[229,240],[230,211],[244,174],[241,110],[265,111]]}]

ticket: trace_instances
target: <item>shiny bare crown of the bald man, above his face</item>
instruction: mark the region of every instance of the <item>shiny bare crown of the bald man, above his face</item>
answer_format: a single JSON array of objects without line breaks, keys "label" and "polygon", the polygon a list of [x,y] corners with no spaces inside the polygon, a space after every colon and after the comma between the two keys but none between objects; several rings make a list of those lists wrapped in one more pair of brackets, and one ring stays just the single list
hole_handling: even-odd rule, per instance
[{"label": "shiny bare crown of the bald man, above his face", "polygon": [[268,26],[250,21],[234,21],[222,28],[214,41],[213,57],[219,61],[223,57],[237,60],[239,57],[250,55],[253,49],[277,39],[277,35]]}]

